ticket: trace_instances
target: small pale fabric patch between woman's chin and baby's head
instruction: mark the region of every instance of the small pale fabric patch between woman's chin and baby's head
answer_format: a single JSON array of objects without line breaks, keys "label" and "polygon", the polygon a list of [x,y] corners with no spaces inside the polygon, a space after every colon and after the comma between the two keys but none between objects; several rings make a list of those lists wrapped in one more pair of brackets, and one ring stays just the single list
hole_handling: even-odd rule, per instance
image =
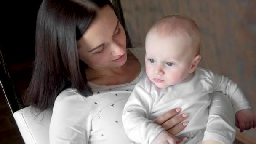
[{"label": "small pale fabric patch between woman's chin and baby's head", "polygon": [[137,48],[128,48],[131,53],[139,60],[141,63],[141,67],[145,67],[145,48],[137,47]]}]

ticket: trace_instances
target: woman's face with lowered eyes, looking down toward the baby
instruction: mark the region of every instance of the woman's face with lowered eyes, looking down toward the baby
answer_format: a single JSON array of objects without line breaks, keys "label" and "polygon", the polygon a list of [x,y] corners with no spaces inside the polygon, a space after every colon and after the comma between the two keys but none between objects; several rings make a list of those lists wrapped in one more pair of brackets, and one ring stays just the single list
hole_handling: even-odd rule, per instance
[{"label": "woman's face with lowered eyes, looking down toward the baby", "polygon": [[94,69],[120,67],[127,60],[124,29],[108,5],[101,8],[77,45],[80,59]]}]

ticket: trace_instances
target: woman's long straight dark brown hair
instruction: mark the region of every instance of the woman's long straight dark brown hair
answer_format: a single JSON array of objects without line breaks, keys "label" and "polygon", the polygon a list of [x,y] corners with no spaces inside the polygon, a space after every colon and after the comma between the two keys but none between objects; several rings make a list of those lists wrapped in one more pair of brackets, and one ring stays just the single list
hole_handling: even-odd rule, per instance
[{"label": "woman's long straight dark brown hair", "polygon": [[109,0],[43,0],[37,15],[35,64],[25,104],[43,111],[53,108],[58,94],[76,88],[87,97],[85,65],[79,60],[77,40]]}]

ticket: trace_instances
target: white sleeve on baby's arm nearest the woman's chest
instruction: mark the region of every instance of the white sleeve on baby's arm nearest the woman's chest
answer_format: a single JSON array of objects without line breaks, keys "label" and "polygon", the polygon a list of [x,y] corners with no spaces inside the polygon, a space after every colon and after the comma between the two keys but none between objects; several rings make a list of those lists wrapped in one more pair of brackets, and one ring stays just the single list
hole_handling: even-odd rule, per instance
[{"label": "white sleeve on baby's arm nearest the woman's chest", "polygon": [[128,138],[141,144],[150,144],[164,130],[160,125],[148,119],[154,100],[146,90],[146,85],[147,83],[141,80],[135,86],[122,115],[124,130]]}]

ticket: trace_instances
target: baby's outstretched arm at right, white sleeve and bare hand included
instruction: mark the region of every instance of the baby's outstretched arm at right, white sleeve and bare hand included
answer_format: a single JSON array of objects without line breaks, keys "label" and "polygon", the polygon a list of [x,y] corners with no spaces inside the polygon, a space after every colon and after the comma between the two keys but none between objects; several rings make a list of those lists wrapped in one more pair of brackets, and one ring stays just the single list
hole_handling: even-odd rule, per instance
[{"label": "baby's outstretched arm at right, white sleeve and bare hand included", "polygon": [[236,117],[236,126],[240,131],[256,127],[256,115],[241,89],[229,78],[210,72],[213,78],[214,91],[221,91],[231,101]]}]

